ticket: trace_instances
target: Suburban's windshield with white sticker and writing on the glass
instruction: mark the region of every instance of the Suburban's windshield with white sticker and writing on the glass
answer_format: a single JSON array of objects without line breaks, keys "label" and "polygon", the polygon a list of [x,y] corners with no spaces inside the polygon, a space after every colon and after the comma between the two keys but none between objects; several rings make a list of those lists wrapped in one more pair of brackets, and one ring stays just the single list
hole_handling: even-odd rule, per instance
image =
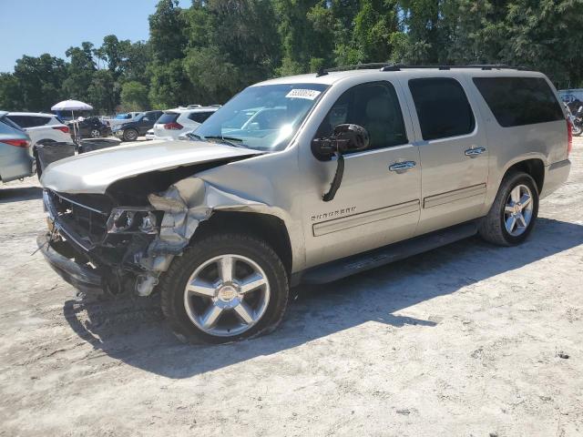
[{"label": "Suburban's windshield with white sticker and writing on the glass", "polygon": [[196,131],[201,138],[224,138],[233,146],[276,151],[287,147],[303,119],[328,86],[250,86]]}]

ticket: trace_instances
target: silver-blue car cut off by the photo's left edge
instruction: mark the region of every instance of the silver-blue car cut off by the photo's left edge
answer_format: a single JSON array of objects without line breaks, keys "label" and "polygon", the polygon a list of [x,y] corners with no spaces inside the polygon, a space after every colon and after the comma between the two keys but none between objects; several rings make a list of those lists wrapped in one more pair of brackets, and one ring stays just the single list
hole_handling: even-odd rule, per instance
[{"label": "silver-blue car cut off by the photo's left edge", "polygon": [[30,137],[18,127],[8,113],[0,111],[0,180],[26,178],[35,174],[33,159],[30,157]]}]

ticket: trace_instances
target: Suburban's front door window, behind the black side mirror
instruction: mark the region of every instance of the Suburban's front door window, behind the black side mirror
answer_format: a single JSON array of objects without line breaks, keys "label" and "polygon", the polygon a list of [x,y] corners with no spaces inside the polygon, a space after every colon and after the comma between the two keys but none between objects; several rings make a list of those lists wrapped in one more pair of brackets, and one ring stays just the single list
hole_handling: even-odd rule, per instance
[{"label": "Suburban's front door window, behind the black side mirror", "polygon": [[316,137],[331,137],[333,128],[343,124],[364,127],[370,138],[369,149],[408,142],[399,99],[389,83],[373,82],[345,91],[322,121]]}]

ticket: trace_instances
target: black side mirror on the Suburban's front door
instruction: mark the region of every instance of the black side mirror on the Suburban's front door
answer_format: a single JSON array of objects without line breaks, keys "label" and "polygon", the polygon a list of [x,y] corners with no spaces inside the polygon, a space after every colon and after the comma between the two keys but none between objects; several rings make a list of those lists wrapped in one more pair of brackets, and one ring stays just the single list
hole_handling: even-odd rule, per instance
[{"label": "black side mirror on the Suburban's front door", "polygon": [[358,125],[338,125],[334,127],[332,137],[314,138],[312,153],[321,161],[329,161],[334,154],[343,154],[363,150],[369,145],[368,132]]}]

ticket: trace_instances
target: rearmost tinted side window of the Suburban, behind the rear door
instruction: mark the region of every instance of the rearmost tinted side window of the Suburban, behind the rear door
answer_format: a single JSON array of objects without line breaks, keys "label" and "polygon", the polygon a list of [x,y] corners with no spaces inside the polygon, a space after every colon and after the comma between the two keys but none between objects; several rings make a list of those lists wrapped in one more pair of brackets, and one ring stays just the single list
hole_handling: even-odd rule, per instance
[{"label": "rearmost tinted side window of the Suburban, behind the rear door", "polygon": [[474,77],[474,84],[502,127],[565,118],[557,97],[542,77]]}]

